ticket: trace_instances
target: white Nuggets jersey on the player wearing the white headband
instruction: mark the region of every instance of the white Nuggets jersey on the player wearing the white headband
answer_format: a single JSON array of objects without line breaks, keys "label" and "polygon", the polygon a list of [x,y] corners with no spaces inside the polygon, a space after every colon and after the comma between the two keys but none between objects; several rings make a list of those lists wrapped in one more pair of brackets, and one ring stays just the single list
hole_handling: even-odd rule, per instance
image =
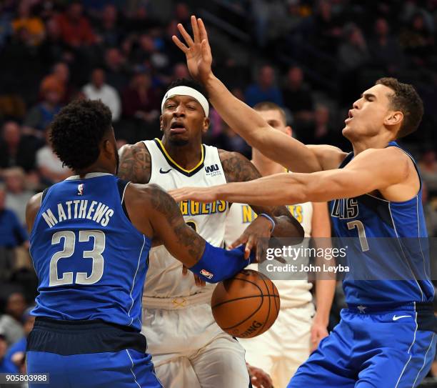
[{"label": "white Nuggets jersey on the player wearing the white headband", "polygon": [[[159,184],[166,190],[184,186],[214,186],[225,184],[226,177],[214,146],[202,145],[199,164],[190,171],[182,169],[167,153],[159,139],[144,141],[151,156],[150,183]],[[187,224],[214,247],[223,247],[225,220],[228,203],[216,201],[200,204],[194,201],[179,203]],[[214,284],[197,287],[192,274],[182,276],[182,264],[164,246],[151,249],[150,266],[144,286],[144,296],[154,298],[188,297],[193,294],[211,294]],[[147,306],[146,300],[144,305]]]}]

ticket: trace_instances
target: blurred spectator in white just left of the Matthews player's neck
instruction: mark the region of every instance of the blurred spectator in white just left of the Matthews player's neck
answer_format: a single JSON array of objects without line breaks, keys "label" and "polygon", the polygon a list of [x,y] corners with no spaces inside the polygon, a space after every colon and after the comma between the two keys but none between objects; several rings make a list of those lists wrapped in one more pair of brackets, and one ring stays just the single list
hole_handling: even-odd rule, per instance
[{"label": "blurred spectator in white just left of the Matthews player's neck", "polygon": [[71,175],[71,170],[64,166],[51,148],[49,129],[46,129],[46,145],[36,151],[36,167],[46,186],[63,181]]}]

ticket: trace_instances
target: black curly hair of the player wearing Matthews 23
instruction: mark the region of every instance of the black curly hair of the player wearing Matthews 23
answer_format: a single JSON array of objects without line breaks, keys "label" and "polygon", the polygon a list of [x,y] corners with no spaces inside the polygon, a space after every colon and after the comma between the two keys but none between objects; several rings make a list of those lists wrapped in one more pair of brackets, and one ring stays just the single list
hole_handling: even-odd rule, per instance
[{"label": "black curly hair of the player wearing Matthews 23", "polygon": [[84,169],[99,158],[99,144],[112,128],[108,106],[101,101],[76,100],[56,114],[50,128],[54,153],[74,171]]}]

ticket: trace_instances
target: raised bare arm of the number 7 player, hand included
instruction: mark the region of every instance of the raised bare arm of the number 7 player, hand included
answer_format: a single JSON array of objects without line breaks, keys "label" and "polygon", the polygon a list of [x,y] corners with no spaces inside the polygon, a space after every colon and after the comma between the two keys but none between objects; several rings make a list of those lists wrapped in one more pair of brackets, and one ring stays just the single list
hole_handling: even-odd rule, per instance
[{"label": "raised bare arm of the number 7 player, hand included", "polygon": [[321,171],[323,169],[321,161],[311,149],[269,126],[258,112],[233,96],[214,76],[211,71],[211,48],[204,23],[201,19],[191,16],[191,25],[194,39],[191,39],[184,26],[179,24],[179,31],[186,44],[176,36],[173,36],[173,41],[186,54],[191,76],[204,84],[211,104],[221,118],[248,144],[291,171]]}]

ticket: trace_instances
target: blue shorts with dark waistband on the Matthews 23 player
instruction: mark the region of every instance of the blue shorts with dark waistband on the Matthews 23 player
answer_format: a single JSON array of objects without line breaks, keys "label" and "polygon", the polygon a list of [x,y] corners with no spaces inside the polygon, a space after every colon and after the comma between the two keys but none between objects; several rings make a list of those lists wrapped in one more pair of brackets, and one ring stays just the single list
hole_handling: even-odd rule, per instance
[{"label": "blue shorts with dark waistband on the Matthews 23 player", "polygon": [[37,318],[29,334],[27,373],[49,374],[29,388],[161,388],[144,336],[104,322]]}]

